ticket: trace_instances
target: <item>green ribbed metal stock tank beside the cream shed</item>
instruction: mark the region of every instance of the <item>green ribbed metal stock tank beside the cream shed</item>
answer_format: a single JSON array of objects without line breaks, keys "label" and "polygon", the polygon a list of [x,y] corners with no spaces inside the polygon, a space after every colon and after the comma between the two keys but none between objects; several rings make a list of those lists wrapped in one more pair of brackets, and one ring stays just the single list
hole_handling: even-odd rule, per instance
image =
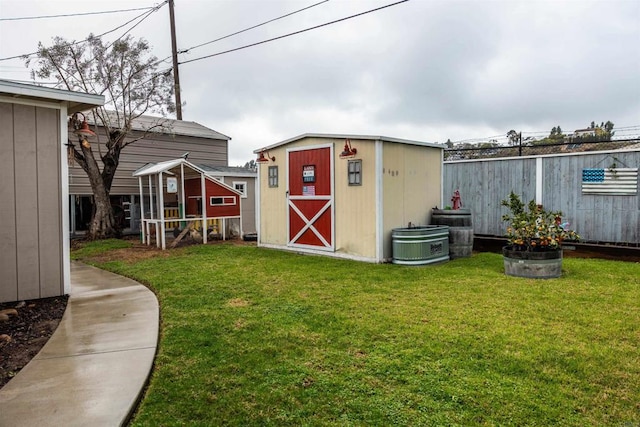
[{"label": "green ribbed metal stock tank beside the cream shed", "polygon": [[392,262],[425,265],[449,260],[449,227],[426,225],[391,230]]}]

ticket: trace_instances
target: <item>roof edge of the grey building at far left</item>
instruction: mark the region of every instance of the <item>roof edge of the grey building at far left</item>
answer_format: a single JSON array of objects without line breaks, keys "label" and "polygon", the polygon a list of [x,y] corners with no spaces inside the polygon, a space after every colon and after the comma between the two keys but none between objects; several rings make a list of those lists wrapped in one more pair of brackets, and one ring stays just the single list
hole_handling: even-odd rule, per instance
[{"label": "roof edge of the grey building at far left", "polygon": [[24,101],[41,102],[66,102],[69,114],[104,104],[103,95],[71,92],[62,89],[35,86],[31,84],[16,83],[9,80],[0,80],[0,98],[8,97],[12,102]]}]

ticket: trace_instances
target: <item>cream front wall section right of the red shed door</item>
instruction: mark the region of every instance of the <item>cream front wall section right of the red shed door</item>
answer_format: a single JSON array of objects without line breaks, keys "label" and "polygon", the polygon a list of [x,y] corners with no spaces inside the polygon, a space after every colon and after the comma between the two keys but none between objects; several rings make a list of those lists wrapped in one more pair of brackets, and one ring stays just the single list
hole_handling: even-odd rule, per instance
[{"label": "cream front wall section right of the red shed door", "polygon": [[349,185],[347,159],[340,159],[344,141],[335,141],[336,251],[376,256],[375,141],[351,140],[362,160],[362,185]]}]

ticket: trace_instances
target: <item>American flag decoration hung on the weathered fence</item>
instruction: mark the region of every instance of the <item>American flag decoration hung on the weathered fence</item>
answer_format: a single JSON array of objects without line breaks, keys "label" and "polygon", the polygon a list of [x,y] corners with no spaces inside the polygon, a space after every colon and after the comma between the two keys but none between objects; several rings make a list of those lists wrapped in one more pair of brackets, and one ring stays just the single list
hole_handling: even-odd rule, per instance
[{"label": "American flag decoration hung on the weathered fence", "polygon": [[583,169],[585,194],[632,195],[638,193],[638,168]]}]

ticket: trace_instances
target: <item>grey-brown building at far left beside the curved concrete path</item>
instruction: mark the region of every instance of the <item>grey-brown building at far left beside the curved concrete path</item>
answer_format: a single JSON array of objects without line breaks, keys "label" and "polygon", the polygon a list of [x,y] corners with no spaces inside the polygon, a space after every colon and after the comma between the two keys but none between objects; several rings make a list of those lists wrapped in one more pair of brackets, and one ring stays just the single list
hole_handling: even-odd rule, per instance
[{"label": "grey-brown building at far left beside the curved concrete path", "polygon": [[103,103],[0,80],[0,302],[69,293],[67,118]]}]

